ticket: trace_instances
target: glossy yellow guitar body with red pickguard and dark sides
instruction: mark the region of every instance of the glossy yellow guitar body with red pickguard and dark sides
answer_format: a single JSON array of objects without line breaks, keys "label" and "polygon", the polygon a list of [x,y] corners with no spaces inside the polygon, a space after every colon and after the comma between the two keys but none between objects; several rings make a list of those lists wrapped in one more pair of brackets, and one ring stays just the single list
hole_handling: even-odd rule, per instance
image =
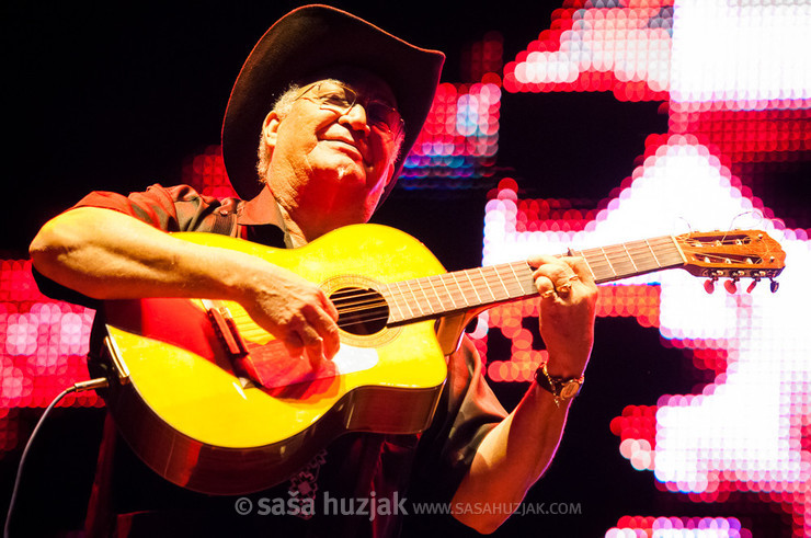
[{"label": "glossy yellow guitar body with red pickguard and dark sides", "polygon": [[[375,225],[292,250],[208,233],[175,237],[262,257],[328,296],[444,273],[422,243]],[[433,320],[370,334],[342,329],[340,366],[312,373],[241,306],[225,306],[247,355],[277,365],[270,387],[235,367],[204,301],[105,304],[108,366],[117,375],[107,405],[135,453],[165,479],[204,493],[249,493],[287,479],[345,432],[409,434],[430,424],[446,377]]]}]

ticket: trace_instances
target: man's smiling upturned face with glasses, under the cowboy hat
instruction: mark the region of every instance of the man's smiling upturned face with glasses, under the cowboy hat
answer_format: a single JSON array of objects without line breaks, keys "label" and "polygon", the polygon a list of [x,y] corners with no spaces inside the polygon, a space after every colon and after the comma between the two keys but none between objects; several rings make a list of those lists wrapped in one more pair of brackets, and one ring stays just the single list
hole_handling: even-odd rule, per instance
[{"label": "man's smiling upturned face with glasses, under the cowboy hat", "polygon": [[[368,72],[331,77],[302,87],[284,117],[272,114],[265,122],[265,141],[273,148],[269,184],[288,210],[365,221],[391,179],[402,137],[376,126],[373,116],[385,105],[396,111],[396,101],[388,84]],[[344,96],[344,87],[357,102],[342,113],[331,98]]]}]

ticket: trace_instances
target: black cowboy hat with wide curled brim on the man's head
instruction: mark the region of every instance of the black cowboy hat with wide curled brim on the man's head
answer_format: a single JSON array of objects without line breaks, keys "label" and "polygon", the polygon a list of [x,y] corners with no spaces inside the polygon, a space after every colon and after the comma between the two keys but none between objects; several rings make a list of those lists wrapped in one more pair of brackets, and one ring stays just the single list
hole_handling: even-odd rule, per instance
[{"label": "black cowboy hat with wide curled brim on the man's head", "polygon": [[[431,110],[444,61],[438,50],[415,47],[329,5],[290,11],[256,43],[231,90],[222,121],[222,158],[231,185],[243,199],[260,193],[256,147],[265,115],[292,82],[336,66],[364,68],[395,92],[406,123],[396,179]],[[382,198],[395,183],[389,182]]]}]

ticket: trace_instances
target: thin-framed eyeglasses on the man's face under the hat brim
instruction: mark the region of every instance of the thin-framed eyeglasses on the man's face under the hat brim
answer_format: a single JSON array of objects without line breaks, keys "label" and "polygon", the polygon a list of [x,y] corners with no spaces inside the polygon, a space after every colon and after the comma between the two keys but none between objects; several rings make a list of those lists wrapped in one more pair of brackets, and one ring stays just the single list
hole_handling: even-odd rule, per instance
[{"label": "thin-framed eyeglasses on the man's face under the hat brim", "polygon": [[359,102],[366,110],[366,123],[369,127],[382,131],[392,139],[400,136],[406,126],[397,108],[382,101],[358,101],[355,90],[339,82],[316,82],[305,88],[301,94],[296,98],[296,100],[299,99],[318,103],[322,111],[332,111],[342,116],[349,114],[352,107]]}]

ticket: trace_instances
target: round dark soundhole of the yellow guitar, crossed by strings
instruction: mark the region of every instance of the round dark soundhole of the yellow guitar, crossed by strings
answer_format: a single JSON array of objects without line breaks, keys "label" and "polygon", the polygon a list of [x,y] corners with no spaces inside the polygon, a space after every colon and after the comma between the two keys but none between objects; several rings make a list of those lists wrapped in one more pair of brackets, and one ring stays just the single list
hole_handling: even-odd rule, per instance
[{"label": "round dark soundhole of the yellow guitar, crossed by strings", "polygon": [[386,328],[389,306],[377,290],[345,287],[334,290],[330,299],[338,309],[338,327],[351,334],[375,334]]}]

